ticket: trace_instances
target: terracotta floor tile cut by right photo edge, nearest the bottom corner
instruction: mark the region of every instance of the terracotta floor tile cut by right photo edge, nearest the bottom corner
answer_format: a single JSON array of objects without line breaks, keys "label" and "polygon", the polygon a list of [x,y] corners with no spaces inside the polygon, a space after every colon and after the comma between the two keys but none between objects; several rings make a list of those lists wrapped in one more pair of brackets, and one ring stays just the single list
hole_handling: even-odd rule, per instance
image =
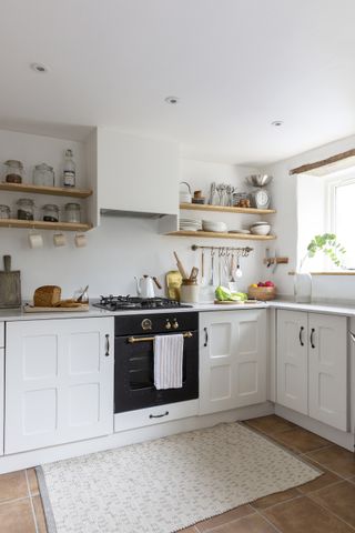
[{"label": "terracotta floor tile cut by right photo edge, nearest the bottom corner", "polygon": [[343,481],[314,492],[310,497],[355,527],[355,485],[353,483]]}]

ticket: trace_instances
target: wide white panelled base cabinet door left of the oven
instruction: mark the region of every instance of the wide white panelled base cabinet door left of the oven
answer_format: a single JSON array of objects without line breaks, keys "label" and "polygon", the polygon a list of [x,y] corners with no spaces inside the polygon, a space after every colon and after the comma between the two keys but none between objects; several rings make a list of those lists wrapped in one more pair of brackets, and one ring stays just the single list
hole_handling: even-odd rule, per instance
[{"label": "wide white panelled base cabinet door left of the oven", "polygon": [[113,432],[113,319],[9,322],[4,452]]}]

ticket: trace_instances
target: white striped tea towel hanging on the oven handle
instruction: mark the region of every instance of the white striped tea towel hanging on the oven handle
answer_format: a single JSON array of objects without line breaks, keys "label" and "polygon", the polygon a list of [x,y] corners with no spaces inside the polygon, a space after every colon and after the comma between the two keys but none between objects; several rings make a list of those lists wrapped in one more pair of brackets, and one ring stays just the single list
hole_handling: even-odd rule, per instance
[{"label": "white striped tea towel hanging on the oven handle", "polygon": [[182,334],[154,338],[155,389],[181,389],[184,338]]}]

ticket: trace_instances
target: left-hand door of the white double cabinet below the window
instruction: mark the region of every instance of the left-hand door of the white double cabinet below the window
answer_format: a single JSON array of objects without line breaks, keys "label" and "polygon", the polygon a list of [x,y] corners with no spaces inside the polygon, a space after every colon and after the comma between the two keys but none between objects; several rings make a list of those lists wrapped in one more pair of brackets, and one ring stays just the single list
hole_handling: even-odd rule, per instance
[{"label": "left-hand door of the white double cabinet below the window", "polygon": [[277,311],[277,403],[308,414],[307,313]]}]

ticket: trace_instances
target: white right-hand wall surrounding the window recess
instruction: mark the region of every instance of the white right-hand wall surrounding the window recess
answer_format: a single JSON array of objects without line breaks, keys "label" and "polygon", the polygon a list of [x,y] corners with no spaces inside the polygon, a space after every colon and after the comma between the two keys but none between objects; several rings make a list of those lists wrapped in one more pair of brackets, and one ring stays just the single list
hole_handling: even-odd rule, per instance
[{"label": "white right-hand wall surrounding the window recess", "polygon": [[[278,253],[288,257],[291,261],[288,265],[280,265],[274,275],[278,292],[282,294],[293,294],[293,276],[286,274],[288,271],[295,270],[297,261],[297,178],[290,175],[288,172],[301,164],[326,159],[353,148],[355,148],[355,135],[280,161],[264,169],[274,177],[271,190],[273,203],[277,209],[277,213],[273,217],[274,230],[277,235],[275,245]],[[302,217],[304,210],[308,211],[310,209],[312,209],[312,203],[307,207],[300,205],[300,217]],[[310,265],[312,269],[312,263]],[[266,269],[264,271],[266,272]],[[355,276],[314,276],[313,296],[315,299],[354,300]]]}]

